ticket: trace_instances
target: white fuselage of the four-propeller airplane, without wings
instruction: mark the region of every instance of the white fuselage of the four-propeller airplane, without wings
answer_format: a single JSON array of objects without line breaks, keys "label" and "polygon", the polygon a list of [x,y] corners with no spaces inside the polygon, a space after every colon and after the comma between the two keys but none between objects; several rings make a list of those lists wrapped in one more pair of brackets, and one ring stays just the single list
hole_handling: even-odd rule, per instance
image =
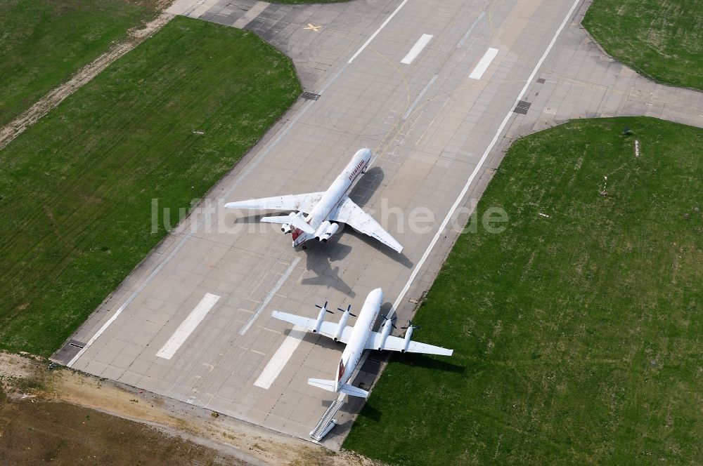
[{"label": "white fuselage of the four-propeller airplane, without wings", "polygon": [[336,391],[339,391],[340,387],[347,383],[352,377],[354,369],[359,365],[361,354],[366,349],[366,342],[373,331],[373,324],[378,318],[382,303],[383,291],[381,288],[376,288],[368,293],[366,301],[363,302],[363,307],[361,307],[359,317],[356,318],[356,324],[354,324],[352,334],[349,335],[347,347],[342,352],[340,365],[337,368]]}]

